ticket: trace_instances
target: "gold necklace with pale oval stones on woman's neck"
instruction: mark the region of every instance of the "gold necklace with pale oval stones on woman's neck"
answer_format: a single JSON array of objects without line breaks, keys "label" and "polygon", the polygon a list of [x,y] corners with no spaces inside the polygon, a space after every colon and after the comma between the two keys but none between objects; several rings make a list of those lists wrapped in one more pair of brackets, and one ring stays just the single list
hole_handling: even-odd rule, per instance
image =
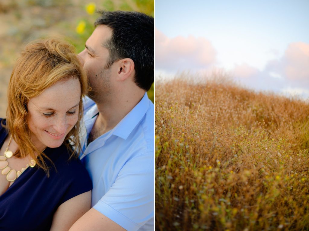
[{"label": "gold necklace with pale oval stones on woman's neck", "polygon": [[36,161],[32,159],[30,160],[30,163],[26,165],[26,168],[22,168],[21,171],[16,171],[15,169],[11,169],[9,167],[9,163],[6,159],[13,156],[13,152],[9,150],[11,139],[12,136],[6,150],[4,151],[4,155],[0,156],[0,169],[2,169],[1,173],[2,175],[6,175],[6,179],[10,182],[15,181],[29,166],[33,168],[36,165]]}]

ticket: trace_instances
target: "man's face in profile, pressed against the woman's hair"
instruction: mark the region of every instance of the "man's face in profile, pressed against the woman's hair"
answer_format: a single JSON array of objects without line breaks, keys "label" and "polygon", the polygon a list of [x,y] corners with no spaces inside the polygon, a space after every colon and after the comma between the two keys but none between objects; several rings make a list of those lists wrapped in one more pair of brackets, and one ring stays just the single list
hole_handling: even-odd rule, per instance
[{"label": "man's face in profile, pressed against the woman's hair", "polygon": [[100,103],[105,96],[111,94],[112,90],[111,68],[104,68],[108,62],[109,52],[103,46],[111,37],[112,30],[105,25],[99,25],[86,41],[86,48],[78,54],[91,86],[88,95],[96,103]]}]

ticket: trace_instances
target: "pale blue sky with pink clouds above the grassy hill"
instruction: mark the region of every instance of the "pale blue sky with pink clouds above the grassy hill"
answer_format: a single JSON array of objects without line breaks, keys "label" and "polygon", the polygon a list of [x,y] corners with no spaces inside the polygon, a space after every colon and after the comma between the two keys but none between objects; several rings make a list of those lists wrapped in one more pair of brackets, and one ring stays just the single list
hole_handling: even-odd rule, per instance
[{"label": "pale blue sky with pink clouds above the grassy hill", "polygon": [[250,88],[307,98],[308,9],[305,0],[156,0],[156,76],[223,68]]}]

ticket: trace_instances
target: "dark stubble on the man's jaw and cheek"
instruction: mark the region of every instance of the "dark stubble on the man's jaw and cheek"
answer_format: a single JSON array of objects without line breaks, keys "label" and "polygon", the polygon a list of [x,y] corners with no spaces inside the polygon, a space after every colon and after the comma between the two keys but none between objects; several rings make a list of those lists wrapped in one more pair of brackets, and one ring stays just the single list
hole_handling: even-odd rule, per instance
[{"label": "dark stubble on the man's jaw and cheek", "polygon": [[92,75],[91,78],[88,78],[91,89],[87,95],[95,103],[104,103],[112,94],[111,69],[103,68],[99,73],[93,73]]}]

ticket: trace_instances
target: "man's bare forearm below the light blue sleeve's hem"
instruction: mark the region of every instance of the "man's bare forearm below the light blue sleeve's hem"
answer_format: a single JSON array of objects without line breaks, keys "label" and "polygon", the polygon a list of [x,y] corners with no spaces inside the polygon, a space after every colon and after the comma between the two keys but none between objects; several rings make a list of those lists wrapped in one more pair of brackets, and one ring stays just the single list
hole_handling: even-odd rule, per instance
[{"label": "man's bare forearm below the light blue sleeve's hem", "polygon": [[78,219],[69,231],[124,231],[120,225],[104,216],[99,211],[91,208]]}]

